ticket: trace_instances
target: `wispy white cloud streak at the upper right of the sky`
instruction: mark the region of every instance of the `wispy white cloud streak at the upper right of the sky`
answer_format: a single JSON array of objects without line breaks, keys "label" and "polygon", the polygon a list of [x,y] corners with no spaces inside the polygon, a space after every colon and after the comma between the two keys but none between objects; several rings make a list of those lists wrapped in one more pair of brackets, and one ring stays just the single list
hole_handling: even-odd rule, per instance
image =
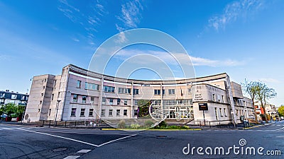
[{"label": "wispy white cloud streak at the upper right of the sky", "polygon": [[219,30],[225,28],[228,23],[236,21],[240,17],[246,17],[247,14],[258,11],[263,5],[263,0],[240,0],[226,5],[221,15],[209,18],[209,27]]}]

